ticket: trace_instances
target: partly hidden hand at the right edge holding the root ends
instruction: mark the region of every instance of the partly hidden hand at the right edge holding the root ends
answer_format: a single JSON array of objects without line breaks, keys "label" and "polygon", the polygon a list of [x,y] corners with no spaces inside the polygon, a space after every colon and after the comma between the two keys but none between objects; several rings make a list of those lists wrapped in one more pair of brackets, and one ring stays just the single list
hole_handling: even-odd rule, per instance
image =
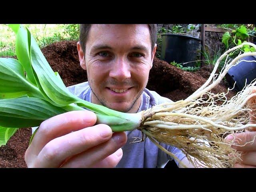
[{"label": "partly hidden hand at the right edge holding the root ends", "polygon": [[[256,89],[254,93],[256,92]],[[248,101],[250,113],[250,124],[256,124],[256,97]],[[237,162],[235,168],[256,168],[256,128],[251,127],[246,132],[235,134],[236,144],[239,146],[232,146],[238,151],[242,152],[242,161]],[[234,136],[228,135],[227,140],[233,140]],[[247,143],[247,144],[246,144]]]}]

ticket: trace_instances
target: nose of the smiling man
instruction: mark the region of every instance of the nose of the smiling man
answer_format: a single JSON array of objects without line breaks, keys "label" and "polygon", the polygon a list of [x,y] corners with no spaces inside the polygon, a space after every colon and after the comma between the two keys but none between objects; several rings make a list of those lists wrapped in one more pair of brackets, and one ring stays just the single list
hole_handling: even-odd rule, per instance
[{"label": "nose of the smiling man", "polygon": [[131,77],[130,64],[126,58],[117,58],[112,64],[109,76],[118,81],[126,80]]}]

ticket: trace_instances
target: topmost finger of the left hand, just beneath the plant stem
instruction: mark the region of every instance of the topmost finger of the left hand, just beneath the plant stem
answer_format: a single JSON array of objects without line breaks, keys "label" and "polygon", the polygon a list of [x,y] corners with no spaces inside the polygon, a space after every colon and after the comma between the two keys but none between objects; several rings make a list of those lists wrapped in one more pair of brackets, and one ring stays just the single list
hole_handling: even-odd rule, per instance
[{"label": "topmost finger of the left hand, just beneath the plant stem", "polygon": [[67,112],[49,118],[42,122],[38,128],[28,150],[37,155],[54,138],[82,128],[91,127],[96,123],[96,120],[96,115],[87,110]]}]

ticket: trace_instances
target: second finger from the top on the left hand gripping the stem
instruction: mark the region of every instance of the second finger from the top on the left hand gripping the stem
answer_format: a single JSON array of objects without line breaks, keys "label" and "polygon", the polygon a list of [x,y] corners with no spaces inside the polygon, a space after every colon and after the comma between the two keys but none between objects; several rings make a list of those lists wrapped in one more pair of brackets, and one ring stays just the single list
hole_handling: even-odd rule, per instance
[{"label": "second finger from the top on the left hand gripping the stem", "polygon": [[35,167],[59,167],[66,158],[109,140],[112,130],[105,124],[84,128],[51,140],[38,154]]}]

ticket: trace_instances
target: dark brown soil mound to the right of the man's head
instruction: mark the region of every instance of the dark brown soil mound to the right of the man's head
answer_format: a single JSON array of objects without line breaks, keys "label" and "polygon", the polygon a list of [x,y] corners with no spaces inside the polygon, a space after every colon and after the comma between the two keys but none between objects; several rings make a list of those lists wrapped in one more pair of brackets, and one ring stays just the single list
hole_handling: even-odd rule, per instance
[{"label": "dark brown soil mound to the right of the man's head", "polygon": [[[203,66],[197,72],[187,72],[165,61],[154,58],[154,64],[149,74],[147,88],[173,101],[182,100],[200,88],[210,76],[212,68]],[[228,85],[222,80],[212,92],[227,92]],[[234,96],[231,91],[227,98]]]}]

